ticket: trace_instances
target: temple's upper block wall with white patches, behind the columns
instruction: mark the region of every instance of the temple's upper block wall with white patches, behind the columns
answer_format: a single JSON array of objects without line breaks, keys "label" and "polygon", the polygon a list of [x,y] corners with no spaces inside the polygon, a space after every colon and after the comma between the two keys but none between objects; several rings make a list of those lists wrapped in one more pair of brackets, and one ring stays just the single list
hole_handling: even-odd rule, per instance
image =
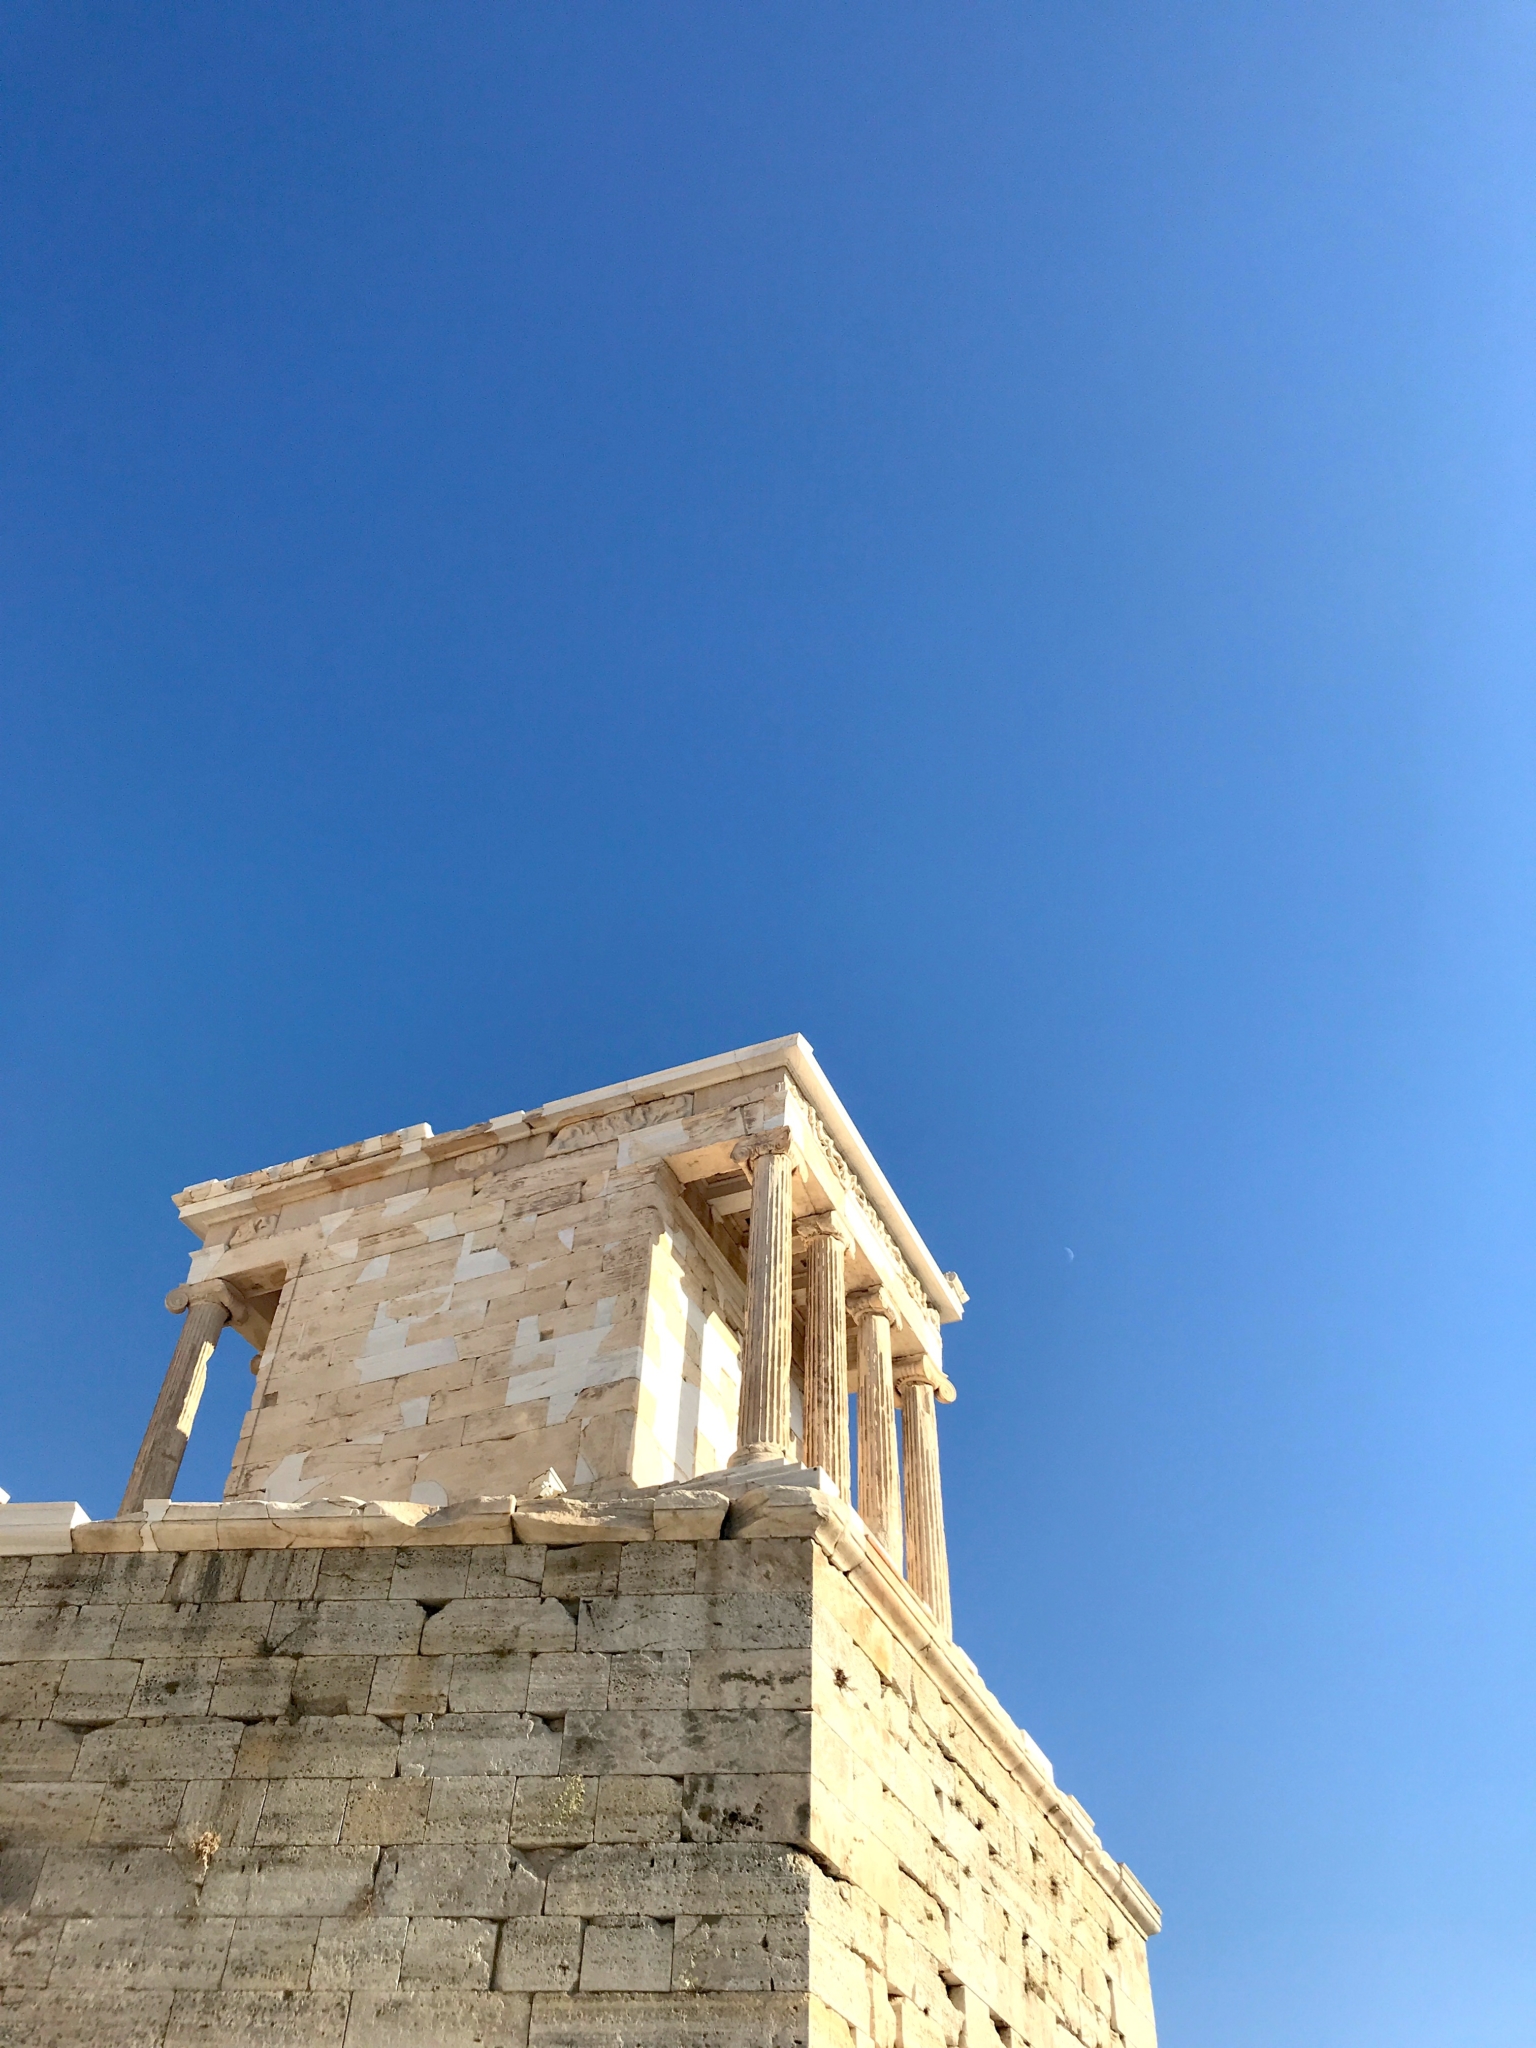
[{"label": "temple's upper block wall with white patches, behind the columns", "polygon": [[664,1169],[512,1147],[408,1178],[283,1214],[293,1272],[227,1495],[442,1505],[551,1466],[588,1489],[725,1462],[741,1288],[686,1247]]}]

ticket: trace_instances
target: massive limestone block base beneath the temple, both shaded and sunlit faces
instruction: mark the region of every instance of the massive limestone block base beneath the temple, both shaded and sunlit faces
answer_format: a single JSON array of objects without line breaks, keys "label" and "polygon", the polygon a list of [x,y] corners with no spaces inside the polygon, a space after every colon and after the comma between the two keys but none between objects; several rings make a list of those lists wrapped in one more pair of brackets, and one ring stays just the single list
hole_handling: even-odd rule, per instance
[{"label": "massive limestone block base beneath the temple, both shaded and sunlit faces", "polygon": [[836,1530],[0,1559],[0,2044],[1151,2048],[905,1599]]}]

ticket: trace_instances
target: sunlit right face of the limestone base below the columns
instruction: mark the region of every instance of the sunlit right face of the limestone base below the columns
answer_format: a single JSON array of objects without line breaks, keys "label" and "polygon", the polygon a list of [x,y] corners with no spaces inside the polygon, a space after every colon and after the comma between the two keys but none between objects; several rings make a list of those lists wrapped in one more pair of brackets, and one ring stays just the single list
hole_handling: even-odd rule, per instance
[{"label": "sunlit right face of the limestone base below the columns", "polygon": [[[936,1681],[922,1630],[901,1626],[909,1606],[893,1575],[846,1575],[817,1550],[811,1810],[825,1868],[848,1880],[827,1931],[868,1968],[874,2038],[1155,2048],[1151,1901],[1075,1800],[1020,1784],[979,1724],[993,1716]],[[852,1978],[840,2009],[856,2021],[862,2001]]]}]

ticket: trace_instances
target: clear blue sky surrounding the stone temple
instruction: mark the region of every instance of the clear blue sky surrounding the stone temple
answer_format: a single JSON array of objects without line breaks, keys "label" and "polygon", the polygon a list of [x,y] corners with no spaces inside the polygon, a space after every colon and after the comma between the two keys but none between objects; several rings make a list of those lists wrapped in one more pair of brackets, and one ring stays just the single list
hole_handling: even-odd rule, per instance
[{"label": "clear blue sky surrounding the stone temple", "polygon": [[803,1030],[1167,2048],[1532,2038],[1536,8],[0,25],[0,1485],[174,1188]]}]

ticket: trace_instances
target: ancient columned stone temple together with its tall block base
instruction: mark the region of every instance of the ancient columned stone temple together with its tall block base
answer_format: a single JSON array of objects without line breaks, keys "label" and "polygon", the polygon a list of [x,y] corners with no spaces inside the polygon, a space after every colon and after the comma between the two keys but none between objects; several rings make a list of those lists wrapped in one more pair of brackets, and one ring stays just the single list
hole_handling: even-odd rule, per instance
[{"label": "ancient columned stone temple together with its tall block base", "polygon": [[0,1505],[0,2048],[1153,2048],[950,1634],[965,1288],[803,1038],[176,1206],[119,1513]]}]

